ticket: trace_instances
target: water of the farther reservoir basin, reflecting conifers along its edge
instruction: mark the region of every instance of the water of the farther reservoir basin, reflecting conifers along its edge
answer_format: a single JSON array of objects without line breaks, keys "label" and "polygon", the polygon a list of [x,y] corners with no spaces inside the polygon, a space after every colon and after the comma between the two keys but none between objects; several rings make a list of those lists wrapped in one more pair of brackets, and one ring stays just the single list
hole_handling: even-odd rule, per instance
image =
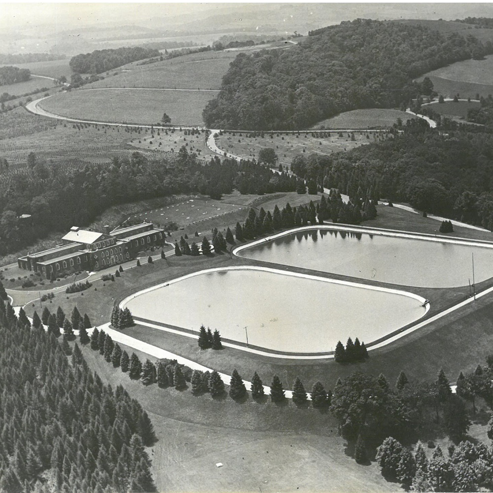
[{"label": "water of the farther reservoir basin, reflecting conifers along its edge", "polygon": [[[296,241],[294,241],[296,240]],[[311,230],[241,250],[238,255],[405,286],[457,287],[493,277],[493,248]]]}]

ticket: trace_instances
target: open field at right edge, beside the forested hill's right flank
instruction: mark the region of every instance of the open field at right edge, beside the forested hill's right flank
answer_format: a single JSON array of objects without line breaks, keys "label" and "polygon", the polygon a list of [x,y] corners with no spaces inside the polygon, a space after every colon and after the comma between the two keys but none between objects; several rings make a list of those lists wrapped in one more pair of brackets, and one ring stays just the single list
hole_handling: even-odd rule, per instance
[{"label": "open field at right edge, beside the forested hill's right flank", "polygon": [[433,82],[434,91],[444,97],[459,94],[464,99],[475,99],[476,94],[479,94],[486,98],[493,93],[492,71],[493,55],[488,55],[485,60],[464,60],[432,70],[417,80],[421,82],[424,77],[429,77]]}]

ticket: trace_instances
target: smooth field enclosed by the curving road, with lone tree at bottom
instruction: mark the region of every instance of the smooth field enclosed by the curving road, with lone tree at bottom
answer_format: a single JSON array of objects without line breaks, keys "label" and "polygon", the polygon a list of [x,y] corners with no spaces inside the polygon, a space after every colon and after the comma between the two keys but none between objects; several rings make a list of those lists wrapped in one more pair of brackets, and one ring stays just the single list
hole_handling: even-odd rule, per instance
[{"label": "smooth field enclosed by the curving road, with lone tree at bottom", "polygon": [[172,124],[201,125],[202,110],[214,93],[137,89],[77,90],[39,103],[46,111],[70,118],[149,124],[166,112]]}]

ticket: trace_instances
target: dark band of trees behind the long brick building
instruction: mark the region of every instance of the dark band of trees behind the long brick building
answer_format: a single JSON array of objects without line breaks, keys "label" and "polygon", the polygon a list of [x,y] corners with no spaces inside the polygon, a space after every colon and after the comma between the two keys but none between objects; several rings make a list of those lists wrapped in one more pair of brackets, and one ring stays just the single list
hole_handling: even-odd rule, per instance
[{"label": "dark band of trees behind the long brick building", "polygon": [[[218,157],[204,165],[182,146],[175,158],[149,161],[139,152],[131,159],[82,169],[46,165],[34,153],[26,173],[12,176],[0,196],[0,255],[29,245],[51,231],[90,224],[115,204],[178,193],[201,193],[219,199],[238,188],[243,193],[296,190],[296,177],[278,175],[268,167]],[[21,226],[18,216],[29,213],[33,226]],[[116,225],[115,225],[116,226]]]}]

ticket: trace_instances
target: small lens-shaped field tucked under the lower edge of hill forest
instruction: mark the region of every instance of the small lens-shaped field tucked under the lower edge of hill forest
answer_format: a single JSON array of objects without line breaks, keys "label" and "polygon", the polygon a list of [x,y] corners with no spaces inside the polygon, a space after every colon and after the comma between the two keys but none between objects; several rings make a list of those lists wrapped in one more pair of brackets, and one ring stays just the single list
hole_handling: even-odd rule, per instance
[{"label": "small lens-shaped field tucked under the lower edge of hill forest", "polygon": [[332,116],[327,120],[323,120],[314,129],[379,129],[390,128],[397,122],[397,118],[402,120],[405,125],[407,120],[415,118],[409,113],[399,111],[398,109],[353,109],[352,111],[346,111],[336,116]]}]

